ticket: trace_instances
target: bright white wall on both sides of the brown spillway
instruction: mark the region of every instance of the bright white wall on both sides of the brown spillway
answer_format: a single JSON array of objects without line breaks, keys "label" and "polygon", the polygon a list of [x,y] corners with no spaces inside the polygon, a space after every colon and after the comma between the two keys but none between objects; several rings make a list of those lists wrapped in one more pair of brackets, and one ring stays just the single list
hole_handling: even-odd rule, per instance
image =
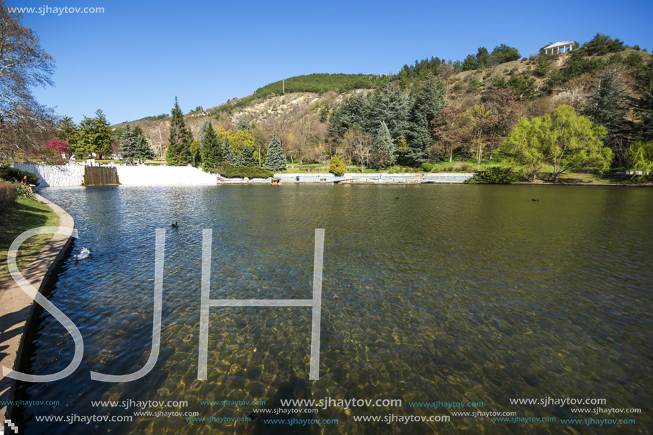
[{"label": "bright white wall on both sides of the brown spillway", "polygon": [[[84,167],[74,165],[14,164],[16,169],[34,172],[41,187],[81,186]],[[118,181],[123,186],[156,186],[164,184],[217,184],[214,175],[189,166],[120,166],[116,167]]]}]

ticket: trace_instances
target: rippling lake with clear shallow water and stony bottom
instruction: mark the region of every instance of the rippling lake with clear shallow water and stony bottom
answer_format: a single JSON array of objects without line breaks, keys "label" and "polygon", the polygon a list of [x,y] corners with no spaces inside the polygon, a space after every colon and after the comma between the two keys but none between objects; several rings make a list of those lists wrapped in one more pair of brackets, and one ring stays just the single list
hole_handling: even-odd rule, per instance
[{"label": "rippling lake with clear shallow water and stony bottom", "polygon": [[[14,408],[21,434],[649,434],[653,427],[653,189],[298,184],[41,194],[79,230],[46,295],[79,327],[85,349],[68,378],[19,383],[16,399],[59,402]],[[133,382],[93,381],[91,371],[130,374],[150,355],[157,228],[166,234],[157,363]],[[325,229],[318,380],[309,380],[307,307],[211,308],[208,379],[197,379],[202,229],[213,230],[212,299],[310,299],[315,229]],[[93,255],[75,262],[83,247]],[[58,372],[73,352],[70,335],[41,310],[21,370]],[[324,398],[334,402],[318,412],[278,411],[296,408],[282,399]],[[371,402],[335,402],[343,399]],[[138,409],[130,400],[171,404]],[[252,412],[254,421],[232,420]],[[218,421],[187,421],[185,413]],[[108,421],[38,421],[71,415]],[[355,421],[360,416],[382,421]],[[401,420],[422,416],[434,421]],[[321,421],[291,425],[293,418]],[[549,421],[518,420],[528,418]]]}]

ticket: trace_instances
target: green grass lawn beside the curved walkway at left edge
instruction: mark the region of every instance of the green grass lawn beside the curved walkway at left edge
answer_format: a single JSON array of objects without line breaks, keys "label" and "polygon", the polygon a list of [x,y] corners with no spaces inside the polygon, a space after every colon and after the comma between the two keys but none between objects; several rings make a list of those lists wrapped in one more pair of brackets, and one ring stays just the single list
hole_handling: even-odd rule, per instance
[{"label": "green grass lawn beside the curved walkway at left edge", "polygon": [[[16,237],[37,226],[58,226],[59,216],[46,204],[31,199],[19,198],[14,207],[0,212],[0,287],[9,276],[7,252]],[[19,270],[52,238],[52,234],[38,234],[27,239],[16,256]]]}]

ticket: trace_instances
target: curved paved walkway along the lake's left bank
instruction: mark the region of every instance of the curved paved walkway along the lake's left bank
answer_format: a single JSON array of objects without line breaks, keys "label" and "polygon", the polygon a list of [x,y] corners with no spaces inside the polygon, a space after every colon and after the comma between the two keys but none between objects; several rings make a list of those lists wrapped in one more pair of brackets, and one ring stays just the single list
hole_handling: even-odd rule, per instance
[{"label": "curved paved walkway along the lake's left bank", "polygon": [[[48,205],[59,216],[59,226],[74,228],[75,222],[70,214],[60,206],[36,194],[36,198]],[[59,258],[73,239],[54,234],[41,251],[25,264],[21,273],[38,291],[43,289],[48,276],[53,271]],[[33,309],[33,300],[14,280],[3,285],[0,290],[0,366],[18,369],[23,350],[22,337],[29,324]],[[0,402],[14,400],[14,379],[4,377],[0,369]],[[0,405],[0,424],[9,416],[9,407]],[[1,426],[0,426],[1,429]]]}]

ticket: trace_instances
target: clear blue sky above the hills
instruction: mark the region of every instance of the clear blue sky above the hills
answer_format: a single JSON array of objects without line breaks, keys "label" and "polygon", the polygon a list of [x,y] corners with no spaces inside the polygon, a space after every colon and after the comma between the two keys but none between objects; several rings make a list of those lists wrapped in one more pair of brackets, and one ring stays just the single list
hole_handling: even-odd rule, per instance
[{"label": "clear blue sky above the hills", "polygon": [[55,87],[34,94],[61,115],[112,123],[184,112],[310,73],[397,73],[416,59],[464,59],[501,43],[522,56],[597,32],[653,51],[652,1],[5,0],[9,6],[103,7],[24,14],[56,59]]}]

